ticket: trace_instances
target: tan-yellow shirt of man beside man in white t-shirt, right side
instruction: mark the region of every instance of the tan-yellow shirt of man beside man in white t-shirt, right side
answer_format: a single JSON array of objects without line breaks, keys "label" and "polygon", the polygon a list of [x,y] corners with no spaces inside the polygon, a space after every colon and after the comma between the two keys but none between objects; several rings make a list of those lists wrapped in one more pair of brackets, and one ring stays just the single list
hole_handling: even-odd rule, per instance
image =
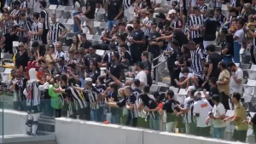
[{"label": "tan-yellow shirt of man beside man in white t-shirt, right side", "polygon": [[[228,70],[224,70],[219,73],[218,81],[224,82],[227,79],[230,79],[230,72]],[[225,95],[230,95],[230,80],[228,84],[218,85],[218,91],[224,92]]]}]

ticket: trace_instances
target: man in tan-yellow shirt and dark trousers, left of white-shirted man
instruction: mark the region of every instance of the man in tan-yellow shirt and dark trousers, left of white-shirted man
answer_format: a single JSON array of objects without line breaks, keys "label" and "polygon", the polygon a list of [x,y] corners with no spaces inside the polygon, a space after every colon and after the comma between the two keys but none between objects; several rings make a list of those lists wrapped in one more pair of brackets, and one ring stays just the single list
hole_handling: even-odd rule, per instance
[{"label": "man in tan-yellow shirt and dark trousers, left of white-shirted man", "polygon": [[226,69],[224,61],[218,63],[220,70],[218,81],[218,91],[220,96],[220,102],[224,105],[225,109],[230,109],[229,98],[230,98],[230,72]]}]

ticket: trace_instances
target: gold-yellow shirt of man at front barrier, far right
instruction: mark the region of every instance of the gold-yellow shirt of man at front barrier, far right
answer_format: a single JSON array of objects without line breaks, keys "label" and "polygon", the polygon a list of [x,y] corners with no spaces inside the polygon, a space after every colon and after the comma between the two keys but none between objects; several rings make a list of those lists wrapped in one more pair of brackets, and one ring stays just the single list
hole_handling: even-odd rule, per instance
[{"label": "gold-yellow shirt of man at front barrier, far right", "polygon": [[236,120],[236,130],[248,130],[248,124],[243,123],[247,119],[247,112],[241,102],[235,106],[235,116],[238,117]]}]

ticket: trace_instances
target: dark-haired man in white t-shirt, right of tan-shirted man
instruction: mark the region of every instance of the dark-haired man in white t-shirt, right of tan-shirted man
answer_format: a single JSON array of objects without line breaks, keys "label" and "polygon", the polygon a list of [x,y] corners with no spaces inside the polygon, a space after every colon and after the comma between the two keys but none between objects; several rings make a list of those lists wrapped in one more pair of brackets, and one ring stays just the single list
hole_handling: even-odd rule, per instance
[{"label": "dark-haired man in white t-shirt, right of tan-shirted man", "polygon": [[240,67],[236,66],[234,62],[228,64],[228,69],[230,70],[232,76],[230,78],[230,94],[242,93],[242,79],[243,72]]}]

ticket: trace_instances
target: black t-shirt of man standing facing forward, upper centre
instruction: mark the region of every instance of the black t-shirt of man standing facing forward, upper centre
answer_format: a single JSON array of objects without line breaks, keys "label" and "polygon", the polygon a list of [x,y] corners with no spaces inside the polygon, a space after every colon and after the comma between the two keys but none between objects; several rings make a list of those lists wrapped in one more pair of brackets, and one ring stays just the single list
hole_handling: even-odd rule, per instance
[{"label": "black t-shirt of man standing facing forward, upper centre", "polygon": [[[133,38],[133,40],[135,41],[142,41],[145,37],[144,37],[144,32],[139,29],[139,30],[133,30],[131,32],[131,37]],[[132,50],[143,50],[143,44],[140,43],[132,43],[131,44],[131,51]]]}]

